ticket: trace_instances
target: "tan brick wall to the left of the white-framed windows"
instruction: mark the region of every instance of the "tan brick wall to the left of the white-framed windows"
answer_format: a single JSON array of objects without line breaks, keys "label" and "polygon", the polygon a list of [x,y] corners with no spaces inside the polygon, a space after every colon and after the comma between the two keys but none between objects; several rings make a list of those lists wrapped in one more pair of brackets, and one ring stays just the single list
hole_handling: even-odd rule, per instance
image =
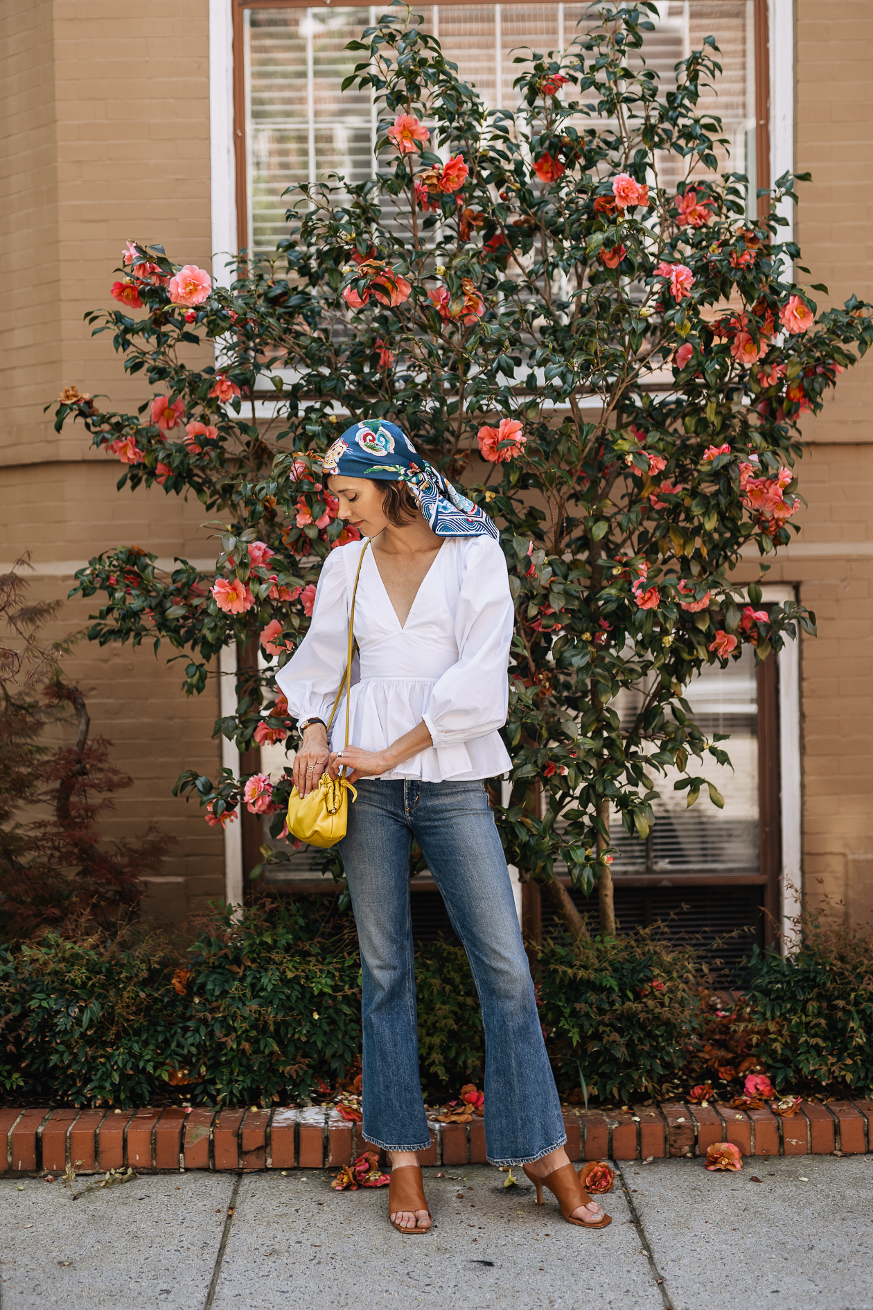
[{"label": "tan brick wall to the left of the white-framed windows", "polygon": [[[0,22],[0,558],[29,549],[34,593],[54,599],[71,578],[51,570],[114,545],[209,554],[199,502],[118,494],[120,465],[88,449],[81,424],[59,438],[42,413],[67,383],[106,393],[111,407],[149,394],[141,377],[126,379],[109,335],[92,338],[82,322],[114,304],[126,240],[209,267],[208,0],[8,0]],[[69,604],[59,627],[81,626],[97,603]],[[113,760],[135,782],[106,832],[154,821],[177,838],[148,908],[182,922],[223,891],[220,834],[170,795],[182,768],[217,770],[217,686],[187,700],[178,664],[151,647],[82,643],[67,672],[88,697],[92,731],[115,743]]]}]

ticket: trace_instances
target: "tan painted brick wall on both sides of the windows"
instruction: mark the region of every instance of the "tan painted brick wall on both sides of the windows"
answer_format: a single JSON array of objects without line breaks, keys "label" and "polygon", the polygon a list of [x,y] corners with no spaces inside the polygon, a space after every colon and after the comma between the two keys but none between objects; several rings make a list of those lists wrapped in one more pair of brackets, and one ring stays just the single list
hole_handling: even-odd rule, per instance
[{"label": "tan painted brick wall on both sides of the windows", "polygon": [[[814,177],[800,185],[802,262],[835,303],[852,290],[873,299],[873,8],[796,0],[794,10],[796,164]],[[118,465],[89,455],[81,431],[56,438],[42,415],[65,383],[106,392],[113,405],[145,394],[123,377],[106,337],[89,339],[81,322],[107,303],[128,237],[208,266],[207,0],[7,0],[0,24],[0,553],[9,559],[29,546],[48,565],[135,542],[160,555],[207,555],[196,504],[157,490],[116,495]],[[873,555],[863,553],[873,541],[872,367],[865,360],[842,379],[838,398],[806,426],[800,549],[768,574],[797,584],[819,620],[819,637],[802,642],[805,876],[811,900],[842,901],[834,913],[852,922],[873,917]],[[41,575],[41,590],[52,584],[67,590],[67,579]],[[71,608],[71,625],[82,612]],[[116,741],[115,758],[136,778],[113,820],[118,831],[157,816],[181,837],[164,874],[185,882],[154,897],[178,918],[220,886],[220,838],[169,796],[181,741],[185,762],[217,765],[216,696],[186,701],[174,668],[145,651],[84,650],[71,675],[89,689],[96,731]]]}]

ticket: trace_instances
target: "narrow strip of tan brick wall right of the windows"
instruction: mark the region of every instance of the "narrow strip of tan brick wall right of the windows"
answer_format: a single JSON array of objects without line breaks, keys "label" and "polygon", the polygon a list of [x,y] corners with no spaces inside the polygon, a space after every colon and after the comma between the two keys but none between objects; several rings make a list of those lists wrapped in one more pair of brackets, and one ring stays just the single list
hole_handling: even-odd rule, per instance
[{"label": "narrow strip of tan brick wall right of the windows", "polygon": [[[798,187],[801,262],[832,303],[873,300],[873,7],[796,0],[794,12],[796,165],[813,174]],[[873,922],[872,368],[868,356],[842,377],[806,426],[808,554],[789,552],[770,574],[798,582],[818,617],[818,638],[802,643],[804,874],[810,905],[846,924]],[[844,554],[809,554],[840,542]]]}]

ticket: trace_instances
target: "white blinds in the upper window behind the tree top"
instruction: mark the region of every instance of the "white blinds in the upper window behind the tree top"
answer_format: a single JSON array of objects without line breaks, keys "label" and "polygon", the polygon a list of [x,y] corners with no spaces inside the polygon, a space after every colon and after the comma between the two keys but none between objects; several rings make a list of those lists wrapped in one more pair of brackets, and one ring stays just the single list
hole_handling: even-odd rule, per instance
[{"label": "white blinds in the upper window behind the tree top", "polygon": [[[645,34],[647,64],[666,92],[675,86],[674,64],[699,50],[704,37],[716,38],[724,73],[717,93],[707,92],[702,106],[711,105],[722,118],[730,166],[754,177],[753,0],[662,0],[657,8],[654,31]],[[285,233],[287,187],[326,182],[331,173],[349,182],[373,174],[377,118],[370,93],[340,94],[340,85],[361,60],[361,52],[346,45],[381,12],[363,5],[245,10],[251,250],[270,253]],[[584,4],[416,5],[415,12],[458,66],[459,77],[492,109],[517,105],[518,55],[565,48],[592,13]],[[660,160],[662,185],[674,185],[681,169],[677,157]]]}]

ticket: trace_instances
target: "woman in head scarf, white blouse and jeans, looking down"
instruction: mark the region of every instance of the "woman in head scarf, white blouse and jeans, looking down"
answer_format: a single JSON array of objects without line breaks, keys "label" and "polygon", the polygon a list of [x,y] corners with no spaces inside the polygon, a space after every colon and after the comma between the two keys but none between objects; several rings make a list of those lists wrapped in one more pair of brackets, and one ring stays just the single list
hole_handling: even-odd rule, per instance
[{"label": "woman in head scarf, white blouse and jeans, looking down", "polygon": [[[326,453],[323,474],[340,517],[365,540],[325,561],[312,626],[277,683],[300,720],[300,794],[325,770],[338,777],[344,769],[357,786],[340,850],[364,980],[363,1131],[391,1159],[391,1222],[404,1233],[431,1226],[415,1154],[431,1145],[410,917],[415,837],[482,1003],[488,1159],[522,1165],[538,1201],[544,1184],[571,1222],[605,1227],[609,1217],[563,1149],[560,1103],[483,782],[510,768],[497,730],[507,718],[514,616],[497,528],[394,423],[355,423]],[[326,724],[344,675],[356,576],[360,671],[349,739],[331,743]],[[335,723],[343,722],[340,703]]]}]

